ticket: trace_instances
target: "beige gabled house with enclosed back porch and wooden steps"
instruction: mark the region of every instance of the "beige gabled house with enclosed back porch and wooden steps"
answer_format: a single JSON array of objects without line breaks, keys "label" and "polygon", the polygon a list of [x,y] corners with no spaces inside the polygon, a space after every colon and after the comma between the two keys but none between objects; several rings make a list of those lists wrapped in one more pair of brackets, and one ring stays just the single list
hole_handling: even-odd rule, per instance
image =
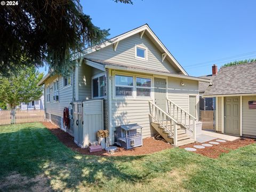
[{"label": "beige gabled house with enclosed back porch and wooden steps", "polygon": [[[174,145],[195,141],[198,82],[210,81],[189,76],[148,25],[90,47],[74,59],[77,66],[70,76],[47,74],[38,83],[45,87],[48,121],[62,127],[64,107],[76,111],[75,101],[103,99],[102,129],[109,130],[110,144],[114,144],[117,126],[133,123],[142,126],[143,138],[157,131]],[[84,105],[84,109],[89,107]],[[93,114],[99,106],[91,107]],[[73,115],[77,115],[75,111]],[[90,117],[90,122],[82,117],[83,126],[90,123],[92,129],[99,124],[94,117]],[[71,135],[77,124],[78,119],[67,130]],[[77,136],[74,137],[76,140]]]}]

